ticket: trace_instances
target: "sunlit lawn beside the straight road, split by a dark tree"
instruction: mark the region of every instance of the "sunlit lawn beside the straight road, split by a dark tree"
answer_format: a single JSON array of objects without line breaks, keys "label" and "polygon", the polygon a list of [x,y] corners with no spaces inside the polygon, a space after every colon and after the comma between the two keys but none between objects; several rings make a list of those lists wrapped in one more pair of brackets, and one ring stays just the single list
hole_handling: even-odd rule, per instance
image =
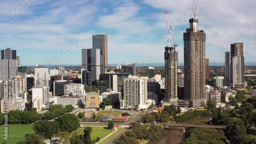
[{"label": "sunlit lawn beside the straight road, split by a dark tree", "polygon": [[[87,127],[87,126],[85,126]],[[100,139],[104,138],[105,136],[109,135],[110,133],[112,133],[113,131],[115,131],[115,129],[105,129],[103,126],[97,126],[97,127],[93,127],[91,126],[93,131],[91,133],[91,138],[92,139],[96,139],[97,137],[99,137]],[[78,134],[78,135],[83,135],[83,130],[84,129],[80,129],[80,130],[75,130],[70,134],[70,137],[74,134]]]}]

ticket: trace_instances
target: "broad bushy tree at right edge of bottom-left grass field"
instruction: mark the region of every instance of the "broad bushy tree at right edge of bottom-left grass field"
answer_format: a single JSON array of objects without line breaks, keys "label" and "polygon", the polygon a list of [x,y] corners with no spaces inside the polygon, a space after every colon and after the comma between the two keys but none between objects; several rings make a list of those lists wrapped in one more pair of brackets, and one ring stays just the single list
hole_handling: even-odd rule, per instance
[{"label": "broad bushy tree at right edge of bottom-left grass field", "polygon": [[53,134],[58,133],[58,125],[55,122],[39,121],[34,123],[33,130],[36,134],[51,138]]}]

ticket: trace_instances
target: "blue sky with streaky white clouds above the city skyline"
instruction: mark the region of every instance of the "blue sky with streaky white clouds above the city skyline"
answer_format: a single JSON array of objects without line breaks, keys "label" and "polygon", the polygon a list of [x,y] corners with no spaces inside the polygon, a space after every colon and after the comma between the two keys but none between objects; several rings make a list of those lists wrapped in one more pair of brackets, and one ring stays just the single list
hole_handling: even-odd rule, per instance
[{"label": "blue sky with streaky white clouds above the city skyline", "polygon": [[[206,32],[209,62],[224,62],[230,43],[245,43],[245,61],[255,61],[256,1],[196,0]],[[183,62],[183,32],[193,0],[109,0],[0,2],[0,45],[11,47],[22,65],[81,64],[92,35],[108,34],[109,64],[163,63],[167,45],[165,10]]]}]

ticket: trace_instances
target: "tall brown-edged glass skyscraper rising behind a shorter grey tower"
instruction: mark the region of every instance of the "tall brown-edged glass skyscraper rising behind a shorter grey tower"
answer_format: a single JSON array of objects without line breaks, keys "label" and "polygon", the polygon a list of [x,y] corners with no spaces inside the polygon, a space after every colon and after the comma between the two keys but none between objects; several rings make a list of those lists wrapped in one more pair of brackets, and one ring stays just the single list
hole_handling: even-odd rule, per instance
[{"label": "tall brown-edged glass skyscraper rising behind a shorter grey tower", "polygon": [[93,35],[93,49],[100,50],[100,74],[105,73],[108,66],[108,34]]}]

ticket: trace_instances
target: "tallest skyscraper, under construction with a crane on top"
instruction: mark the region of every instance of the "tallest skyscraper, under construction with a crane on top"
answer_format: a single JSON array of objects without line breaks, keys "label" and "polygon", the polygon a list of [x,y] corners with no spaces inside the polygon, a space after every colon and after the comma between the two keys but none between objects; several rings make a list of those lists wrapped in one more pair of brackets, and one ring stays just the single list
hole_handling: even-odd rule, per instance
[{"label": "tallest skyscraper, under construction with a crane on top", "polygon": [[198,29],[197,12],[189,19],[190,28],[184,39],[184,99],[189,107],[205,103],[205,40],[204,30]]}]

